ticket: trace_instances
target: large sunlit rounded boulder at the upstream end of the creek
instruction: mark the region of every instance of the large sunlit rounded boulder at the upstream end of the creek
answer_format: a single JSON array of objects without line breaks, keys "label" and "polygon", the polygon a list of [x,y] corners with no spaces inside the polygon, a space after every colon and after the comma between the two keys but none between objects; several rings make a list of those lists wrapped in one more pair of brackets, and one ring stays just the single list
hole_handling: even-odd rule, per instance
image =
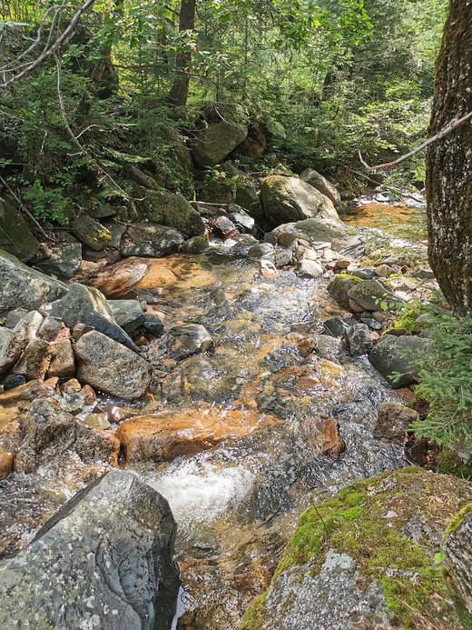
[{"label": "large sunlit rounded boulder at the upstream end of the creek", "polygon": [[270,175],[261,187],[264,219],[270,227],[313,217],[339,221],[331,200],[297,177]]}]

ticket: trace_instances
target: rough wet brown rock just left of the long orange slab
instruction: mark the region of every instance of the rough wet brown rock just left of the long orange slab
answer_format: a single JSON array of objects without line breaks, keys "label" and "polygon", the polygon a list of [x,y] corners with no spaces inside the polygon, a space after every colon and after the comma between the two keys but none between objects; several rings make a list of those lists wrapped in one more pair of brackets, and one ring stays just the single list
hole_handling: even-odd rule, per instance
[{"label": "rough wet brown rock just left of the long orange slab", "polygon": [[33,473],[53,461],[59,467],[69,465],[71,453],[84,464],[118,465],[116,437],[84,425],[55,400],[34,400],[18,422],[21,442],[15,452],[16,473]]}]

